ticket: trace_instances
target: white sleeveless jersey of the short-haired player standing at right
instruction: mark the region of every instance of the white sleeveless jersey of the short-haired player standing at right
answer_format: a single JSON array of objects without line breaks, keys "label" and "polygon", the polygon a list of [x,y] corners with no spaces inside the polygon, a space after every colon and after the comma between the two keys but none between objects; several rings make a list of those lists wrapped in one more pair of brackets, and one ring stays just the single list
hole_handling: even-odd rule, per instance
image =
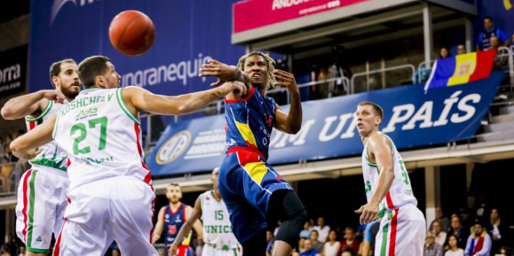
[{"label": "white sleeveless jersey of the short-haired player standing at right", "polygon": [[[397,209],[405,204],[413,204],[417,206],[417,200],[413,194],[411,187],[411,180],[408,179],[407,169],[404,160],[401,159],[397,147],[394,146],[391,138],[381,132],[381,135],[386,136],[391,141],[391,149],[394,160],[394,180],[392,181],[391,188],[385,195],[385,198],[380,202],[379,217],[383,217],[387,211]],[[369,142],[369,141],[368,141]],[[366,188],[366,198],[369,200],[378,186],[378,177],[380,171],[376,163],[371,163],[368,158],[368,144],[364,146],[362,152],[362,175],[364,176],[364,186]]]}]

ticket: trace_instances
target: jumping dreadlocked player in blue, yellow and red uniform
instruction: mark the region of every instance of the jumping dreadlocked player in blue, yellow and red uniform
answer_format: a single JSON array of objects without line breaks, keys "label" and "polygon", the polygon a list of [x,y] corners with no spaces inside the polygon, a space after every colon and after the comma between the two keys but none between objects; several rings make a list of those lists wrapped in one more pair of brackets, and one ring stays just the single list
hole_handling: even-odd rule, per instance
[{"label": "jumping dreadlocked player in blue, yellow and red uniform", "polygon": [[[273,68],[273,59],[262,52],[250,52],[239,59],[248,93],[225,96],[227,156],[220,166],[218,187],[227,204],[232,230],[243,245],[243,255],[265,255],[267,223],[282,222],[272,255],[290,255],[297,245],[307,213],[291,186],[269,165],[271,130],[296,134],[301,128],[300,93],[294,75]],[[215,76],[222,64],[204,64],[202,77]],[[234,76],[236,77],[236,76]],[[243,80],[240,80],[243,81]],[[219,84],[215,83],[213,85]],[[291,94],[288,114],[275,100],[264,96],[266,89],[286,86]]]}]

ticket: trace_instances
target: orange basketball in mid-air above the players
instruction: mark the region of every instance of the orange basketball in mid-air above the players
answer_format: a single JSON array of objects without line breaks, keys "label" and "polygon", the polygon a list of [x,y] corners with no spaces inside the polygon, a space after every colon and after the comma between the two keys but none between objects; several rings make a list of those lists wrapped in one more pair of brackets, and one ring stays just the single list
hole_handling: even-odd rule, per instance
[{"label": "orange basketball in mid-air above the players", "polygon": [[109,39],[122,54],[138,56],[153,44],[155,26],[150,17],[138,10],[125,10],[110,22]]}]

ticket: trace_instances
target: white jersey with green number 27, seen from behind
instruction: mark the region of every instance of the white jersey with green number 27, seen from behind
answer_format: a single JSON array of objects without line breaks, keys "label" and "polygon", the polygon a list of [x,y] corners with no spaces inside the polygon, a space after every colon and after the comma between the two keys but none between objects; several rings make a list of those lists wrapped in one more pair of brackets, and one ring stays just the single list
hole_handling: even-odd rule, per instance
[{"label": "white jersey with green number 27, seen from behind", "polygon": [[59,111],[52,136],[68,152],[70,190],[120,176],[151,183],[140,123],[125,105],[121,88],[80,91]]}]

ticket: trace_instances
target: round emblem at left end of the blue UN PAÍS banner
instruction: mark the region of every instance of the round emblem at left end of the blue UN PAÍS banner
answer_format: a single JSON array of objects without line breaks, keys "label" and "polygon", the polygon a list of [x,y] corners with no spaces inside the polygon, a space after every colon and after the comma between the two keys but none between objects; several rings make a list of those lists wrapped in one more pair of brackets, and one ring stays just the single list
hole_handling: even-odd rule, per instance
[{"label": "round emblem at left end of the blue UN PA\u00cdS banner", "polygon": [[184,151],[190,145],[191,133],[187,130],[180,131],[176,135],[171,136],[157,151],[155,161],[159,165],[165,165],[178,157],[182,156]]}]

